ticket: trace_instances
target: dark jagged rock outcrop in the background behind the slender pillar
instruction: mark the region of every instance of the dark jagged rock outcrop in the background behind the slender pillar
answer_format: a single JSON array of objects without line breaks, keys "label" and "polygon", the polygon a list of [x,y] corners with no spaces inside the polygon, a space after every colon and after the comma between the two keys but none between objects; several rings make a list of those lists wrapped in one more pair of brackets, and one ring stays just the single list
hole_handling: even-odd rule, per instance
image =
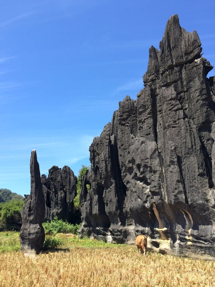
[{"label": "dark jagged rock outcrop in the background behind the slender pillar", "polygon": [[58,166],[49,169],[49,175],[41,176],[42,190],[45,197],[45,221],[58,219],[72,223],[73,199],[76,196],[77,177],[72,169]]}]

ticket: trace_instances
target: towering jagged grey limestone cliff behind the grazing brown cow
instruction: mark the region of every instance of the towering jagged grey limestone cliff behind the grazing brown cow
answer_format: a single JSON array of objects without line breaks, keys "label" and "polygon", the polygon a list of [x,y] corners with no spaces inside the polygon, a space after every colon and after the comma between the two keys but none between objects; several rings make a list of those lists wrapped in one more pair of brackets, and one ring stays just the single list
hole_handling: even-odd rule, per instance
[{"label": "towering jagged grey limestone cliff behind the grazing brown cow", "polygon": [[160,50],[149,49],[145,88],[89,148],[80,237],[134,243],[142,233],[160,252],[215,257],[215,77],[201,50],[171,16]]}]

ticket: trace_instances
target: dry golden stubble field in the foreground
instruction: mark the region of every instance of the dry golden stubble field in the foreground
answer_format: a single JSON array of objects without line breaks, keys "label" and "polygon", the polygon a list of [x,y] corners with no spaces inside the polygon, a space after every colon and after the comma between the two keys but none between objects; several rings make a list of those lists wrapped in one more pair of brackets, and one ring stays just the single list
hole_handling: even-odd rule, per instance
[{"label": "dry golden stubble field in the foreground", "polygon": [[150,252],[144,257],[134,246],[60,236],[62,249],[36,259],[22,251],[0,253],[0,286],[215,286],[214,261]]}]

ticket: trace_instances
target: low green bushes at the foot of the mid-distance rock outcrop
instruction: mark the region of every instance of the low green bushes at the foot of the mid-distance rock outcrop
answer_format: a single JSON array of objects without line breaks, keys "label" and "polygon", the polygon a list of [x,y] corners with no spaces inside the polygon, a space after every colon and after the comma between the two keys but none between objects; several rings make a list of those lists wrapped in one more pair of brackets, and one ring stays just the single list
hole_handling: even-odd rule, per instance
[{"label": "low green bushes at the foot of the mid-distance rock outcrop", "polygon": [[45,230],[45,234],[55,236],[56,233],[72,233],[78,234],[78,230],[80,229],[80,224],[70,224],[67,221],[63,221],[62,219],[58,219],[57,216],[51,222],[44,222],[43,228]]}]

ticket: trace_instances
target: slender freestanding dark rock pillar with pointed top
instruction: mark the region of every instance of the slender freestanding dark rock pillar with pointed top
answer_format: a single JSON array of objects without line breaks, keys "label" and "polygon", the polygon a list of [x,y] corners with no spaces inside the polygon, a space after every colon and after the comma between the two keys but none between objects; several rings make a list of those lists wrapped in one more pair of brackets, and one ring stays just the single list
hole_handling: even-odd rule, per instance
[{"label": "slender freestanding dark rock pillar with pointed top", "polygon": [[42,250],[45,241],[45,232],[42,226],[45,215],[45,200],[35,149],[31,152],[30,174],[31,192],[26,198],[21,211],[22,227],[20,230],[20,242],[21,248],[25,253],[35,255]]}]

